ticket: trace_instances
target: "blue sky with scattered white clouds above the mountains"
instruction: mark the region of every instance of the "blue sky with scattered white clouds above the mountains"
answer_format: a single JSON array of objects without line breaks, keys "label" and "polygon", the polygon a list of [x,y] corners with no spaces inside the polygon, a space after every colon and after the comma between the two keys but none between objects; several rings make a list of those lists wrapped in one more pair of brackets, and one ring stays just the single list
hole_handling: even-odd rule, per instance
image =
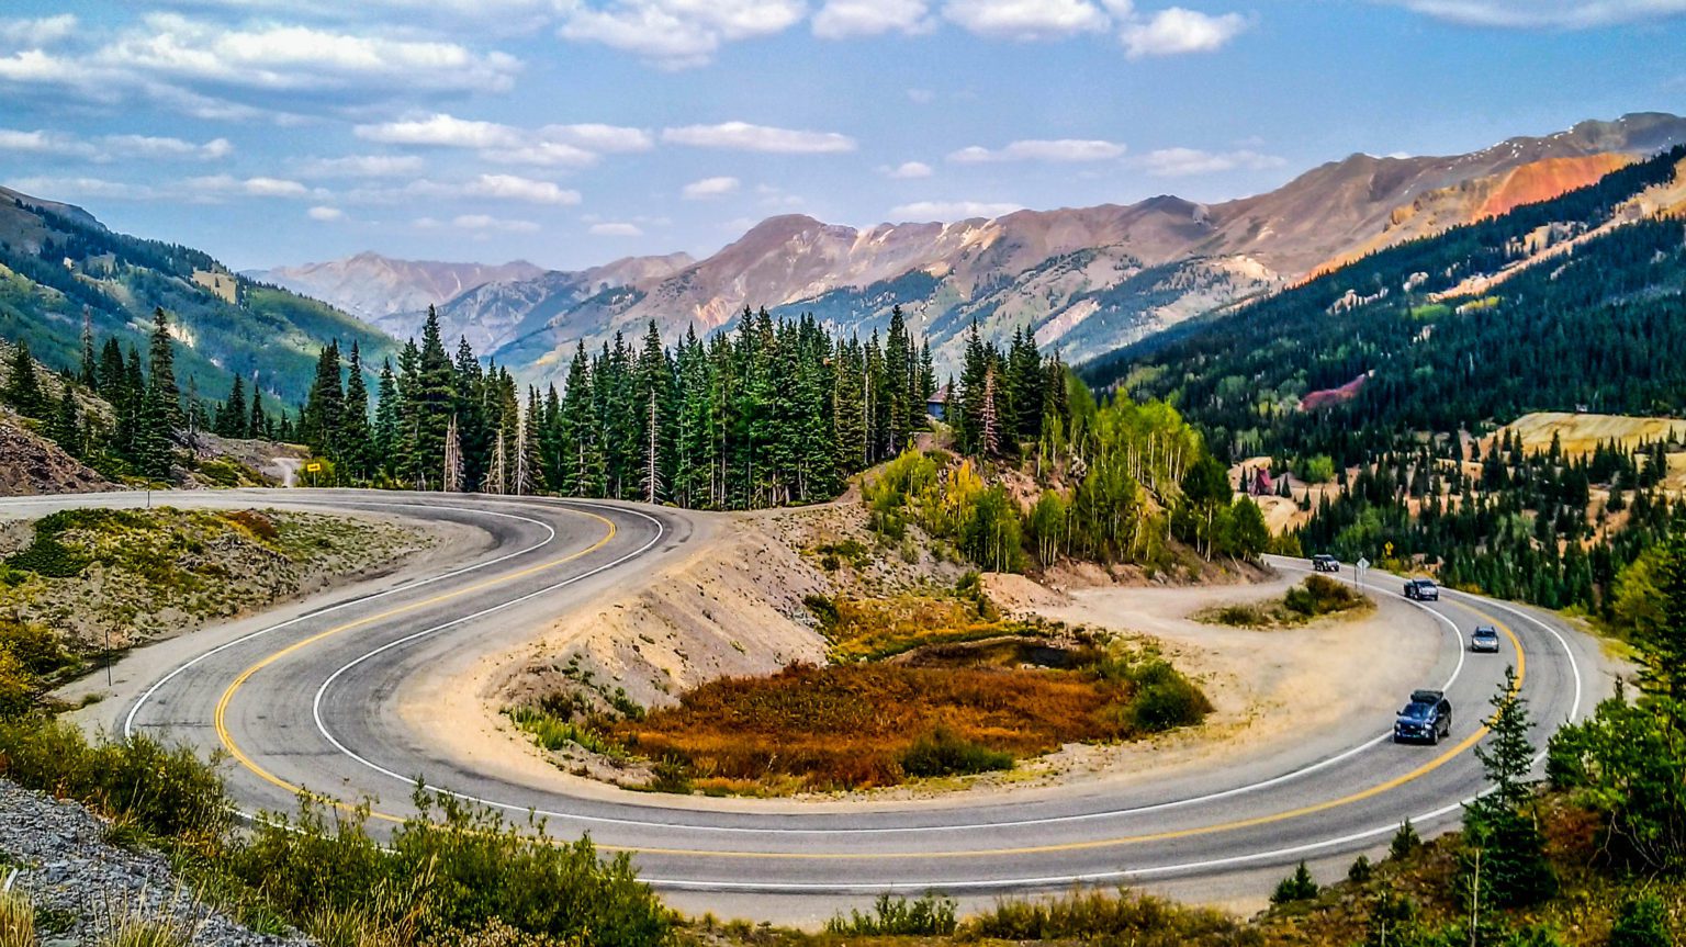
[{"label": "blue sky with scattered white clouds above the mountains", "polygon": [[236,270],[1222,201],[1686,113],[1686,0],[5,0],[0,184]]}]

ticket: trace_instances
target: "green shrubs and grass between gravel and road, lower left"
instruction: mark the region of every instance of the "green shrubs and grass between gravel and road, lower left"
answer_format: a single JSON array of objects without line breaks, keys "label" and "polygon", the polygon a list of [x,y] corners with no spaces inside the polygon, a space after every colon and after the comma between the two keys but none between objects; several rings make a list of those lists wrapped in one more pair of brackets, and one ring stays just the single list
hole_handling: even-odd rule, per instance
[{"label": "green shrubs and grass between gravel and road, lower left", "polygon": [[[553,841],[543,822],[509,822],[448,795],[418,792],[420,816],[386,844],[368,834],[368,805],[312,799],[292,817],[266,816],[236,831],[216,763],[147,736],[89,743],[74,726],[40,716],[0,725],[0,777],[123,826],[125,839],[170,858],[196,905],[260,932],[300,928],[325,947],[676,942],[674,915],[637,881],[626,854],[602,859],[590,839]],[[106,923],[113,937],[101,944],[194,940],[167,918],[108,920],[121,923]]]}]

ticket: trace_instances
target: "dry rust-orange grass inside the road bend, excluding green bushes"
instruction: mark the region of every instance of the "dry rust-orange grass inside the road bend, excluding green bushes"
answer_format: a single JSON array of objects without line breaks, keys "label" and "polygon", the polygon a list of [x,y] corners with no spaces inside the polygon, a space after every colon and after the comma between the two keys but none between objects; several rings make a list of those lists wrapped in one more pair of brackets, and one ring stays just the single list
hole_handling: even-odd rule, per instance
[{"label": "dry rust-orange grass inside the road bend, excluding green bushes", "polygon": [[1131,693],[1077,671],[791,666],[703,684],[614,736],[639,755],[685,760],[700,782],[868,789],[902,782],[902,753],[939,726],[1015,758],[1123,738]]}]

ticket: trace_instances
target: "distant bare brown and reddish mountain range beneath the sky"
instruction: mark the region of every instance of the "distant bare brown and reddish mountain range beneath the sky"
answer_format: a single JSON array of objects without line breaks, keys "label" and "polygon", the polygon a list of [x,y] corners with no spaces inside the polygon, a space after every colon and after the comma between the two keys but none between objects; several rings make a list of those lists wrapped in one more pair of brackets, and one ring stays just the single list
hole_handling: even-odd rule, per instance
[{"label": "distant bare brown and reddish mountain range beneath the sky", "polygon": [[[366,286],[391,285],[405,266],[428,292],[482,278],[440,307],[452,335],[540,381],[555,379],[578,340],[641,332],[668,337],[695,325],[727,329],[744,307],[814,313],[833,330],[882,329],[900,305],[953,364],[976,320],[991,337],[1035,334],[1044,350],[1082,362],[1195,315],[1276,292],[1403,241],[1553,197],[1686,142],[1686,120],[1635,113],[1583,121],[1546,136],[1509,138],[1447,157],[1350,155],[1286,185],[1200,204],[1158,195],[1126,206],[1020,211],[995,219],[902,222],[858,229],[804,216],[762,221],[706,259],[634,258],[578,273],[496,278],[506,268],[395,265],[359,254],[339,265],[273,270],[265,280],[366,307]],[[339,293],[303,271],[347,275]],[[368,273],[368,276],[349,276]],[[378,325],[405,335],[420,307],[389,307]]]}]

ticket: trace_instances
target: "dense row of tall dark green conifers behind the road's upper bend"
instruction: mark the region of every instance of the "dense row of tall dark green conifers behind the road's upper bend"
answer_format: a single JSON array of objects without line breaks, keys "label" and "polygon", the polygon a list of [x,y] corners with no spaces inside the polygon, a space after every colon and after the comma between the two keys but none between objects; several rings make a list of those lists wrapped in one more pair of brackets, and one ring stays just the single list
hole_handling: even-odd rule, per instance
[{"label": "dense row of tall dark green conifers behind the road's upper bend", "polygon": [[428,312],[420,342],[381,366],[373,416],[361,374],[356,345],[349,366],[324,347],[298,413],[298,440],[336,482],[696,509],[831,499],[910,447],[936,394],[931,350],[900,308],[865,340],[745,310],[735,332],[703,340],[693,329],[669,345],[651,322],[637,344],[582,342],[563,386],[543,391],[482,366],[467,340],[447,356]]}]

